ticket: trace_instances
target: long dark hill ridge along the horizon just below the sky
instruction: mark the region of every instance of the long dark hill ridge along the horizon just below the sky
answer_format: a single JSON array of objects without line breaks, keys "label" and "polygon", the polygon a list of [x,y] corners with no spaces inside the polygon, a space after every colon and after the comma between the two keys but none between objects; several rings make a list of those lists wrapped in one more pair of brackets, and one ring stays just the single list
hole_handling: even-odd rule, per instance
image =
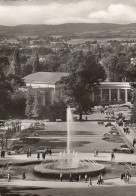
[{"label": "long dark hill ridge along the horizon just below the sky", "polygon": [[0,34],[45,34],[45,33],[84,33],[93,31],[108,31],[117,29],[136,28],[136,23],[128,25],[112,23],[67,23],[61,25],[0,25]]}]

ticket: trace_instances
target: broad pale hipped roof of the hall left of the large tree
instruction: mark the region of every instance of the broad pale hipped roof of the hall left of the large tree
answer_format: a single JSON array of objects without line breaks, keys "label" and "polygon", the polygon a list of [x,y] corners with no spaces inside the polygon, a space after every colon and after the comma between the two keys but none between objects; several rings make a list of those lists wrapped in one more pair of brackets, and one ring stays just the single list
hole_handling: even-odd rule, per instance
[{"label": "broad pale hipped roof of the hall left of the large tree", "polygon": [[67,76],[64,72],[36,72],[24,77],[25,83],[55,84],[62,76]]}]

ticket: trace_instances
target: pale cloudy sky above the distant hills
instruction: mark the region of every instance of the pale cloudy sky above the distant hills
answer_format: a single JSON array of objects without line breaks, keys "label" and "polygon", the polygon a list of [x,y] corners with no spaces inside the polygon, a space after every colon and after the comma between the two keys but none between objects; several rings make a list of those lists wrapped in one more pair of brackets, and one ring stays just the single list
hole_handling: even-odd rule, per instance
[{"label": "pale cloudy sky above the distant hills", "polygon": [[0,0],[0,25],[135,23],[136,0]]}]

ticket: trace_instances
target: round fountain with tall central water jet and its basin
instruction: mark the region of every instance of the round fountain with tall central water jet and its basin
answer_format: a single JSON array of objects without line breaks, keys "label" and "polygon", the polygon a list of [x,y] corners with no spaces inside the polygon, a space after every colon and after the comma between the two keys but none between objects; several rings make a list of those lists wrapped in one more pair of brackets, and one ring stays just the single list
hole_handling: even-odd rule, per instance
[{"label": "round fountain with tall central water jet and its basin", "polygon": [[61,172],[68,176],[70,173],[96,174],[105,169],[104,165],[98,164],[95,160],[89,158],[80,158],[78,152],[72,151],[71,147],[71,126],[73,125],[73,117],[71,108],[67,108],[67,150],[66,152],[60,152],[58,159],[51,159],[43,161],[40,165],[34,167],[36,174],[55,177]]}]

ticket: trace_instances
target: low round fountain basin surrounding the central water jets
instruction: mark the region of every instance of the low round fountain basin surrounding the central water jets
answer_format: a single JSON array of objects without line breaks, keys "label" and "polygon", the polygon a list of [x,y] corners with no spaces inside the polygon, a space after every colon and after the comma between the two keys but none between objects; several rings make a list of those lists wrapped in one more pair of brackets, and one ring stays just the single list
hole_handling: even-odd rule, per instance
[{"label": "low round fountain basin surrounding the central water jets", "polygon": [[90,160],[80,160],[77,167],[61,166],[61,164],[59,165],[58,160],[50,160],[34,167],[35,174],[49,178],[59,178],[61,172],[63,173],[64,178],[69,178],[70,173],[73,177],[79,174],[81,176],[84,174],[95,176],[104,171],[105,166],[103,164],[98,164],[96,162],[92,163]]}]

